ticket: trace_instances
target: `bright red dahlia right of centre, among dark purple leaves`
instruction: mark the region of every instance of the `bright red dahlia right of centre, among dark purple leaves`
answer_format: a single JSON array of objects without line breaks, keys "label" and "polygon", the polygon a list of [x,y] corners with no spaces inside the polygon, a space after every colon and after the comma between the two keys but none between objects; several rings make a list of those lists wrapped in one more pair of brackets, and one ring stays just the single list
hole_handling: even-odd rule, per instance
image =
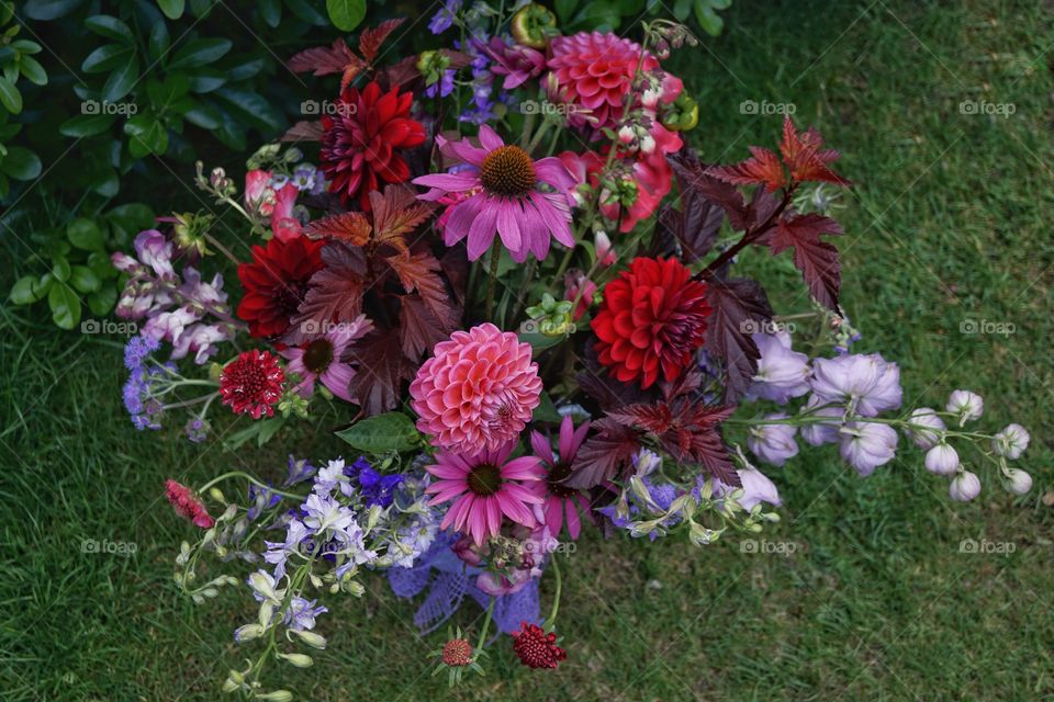
[{"label": "bright red dahlia right of centre, among dark purple leaves", "polygon": [[692,362],[706,335],[706,284],[676,259],[633,259],[604,288],[591,322],[601,363],[624,383],[648,388],[660,372],[673,381]]}]

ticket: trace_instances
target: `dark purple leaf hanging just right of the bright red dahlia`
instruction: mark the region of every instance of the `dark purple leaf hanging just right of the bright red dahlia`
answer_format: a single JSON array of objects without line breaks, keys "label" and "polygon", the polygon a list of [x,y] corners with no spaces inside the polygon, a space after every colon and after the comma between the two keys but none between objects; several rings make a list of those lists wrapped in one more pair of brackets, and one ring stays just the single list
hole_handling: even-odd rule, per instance
[{"label": "dark purple leaf hanging just right of the bright red dahlia", "polygon": [[706,351],[725,366],[725,401],[750,387],[761,352],[751,335],[772,319],[764,288],[749,279],[707,279],[706,301],[713,308],[706,331]]}]

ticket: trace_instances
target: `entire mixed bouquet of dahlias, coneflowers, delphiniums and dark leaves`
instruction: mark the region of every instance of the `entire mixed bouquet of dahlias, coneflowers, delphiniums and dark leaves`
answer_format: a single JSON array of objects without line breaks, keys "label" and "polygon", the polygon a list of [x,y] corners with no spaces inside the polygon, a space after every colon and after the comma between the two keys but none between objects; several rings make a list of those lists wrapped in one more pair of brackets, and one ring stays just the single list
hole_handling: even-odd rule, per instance
[{"label": "entire mixed bouquet of dahlias, coneflowers, delphiniums and dark leaves", "polygon": [[[583,532],[608,548],[762,532],[781,507],[766,473],[799,440],[867,476],[902,434],[953,500],[980,491],[967,451],[1030,489],[1010,467],[1024,428],[967,427],[968,390],[906,407],[897,364],[854,352],[831,217],[851,182],[820,134],[785,120],[777,150],[731,165],[686,146],[698,110],[663,67],[695,45],[685,27],[565,36],[538,4],[448,2],[429,23],[448,46],[389,60],[400,24],[290,58],[332,77],[329,99],[248,159],[244,188],[199,165],[238,226],[176,214],[114,256],[119,314],[142,322],[137,428],[345,442],[166,483],[195,528],[177,585],[251,597],[224,691],[292,699],[268,666],[311,666],[338,625],[327,602],[381,578],[423,634],[447,632],[430,665],[451,684],[489,655],[557,668],[575,634],[558,632],[561,561]],[[736,274],[767,256],[792,259],[798,298]]]}]

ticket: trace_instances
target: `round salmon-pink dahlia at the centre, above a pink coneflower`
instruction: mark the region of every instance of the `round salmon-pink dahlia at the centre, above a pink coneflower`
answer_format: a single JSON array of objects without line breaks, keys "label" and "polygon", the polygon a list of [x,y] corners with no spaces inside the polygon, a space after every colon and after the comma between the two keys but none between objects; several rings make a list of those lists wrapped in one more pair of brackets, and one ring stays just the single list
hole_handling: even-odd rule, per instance
[{"label": "round salmon-pink dahlia at the centre, above a pink coneflower", "polygon": [[541,378],[530,344],[486,322],[437,343],[410,395],[417,429],[433,445],[473,454],[519,437],[540,401]]}]

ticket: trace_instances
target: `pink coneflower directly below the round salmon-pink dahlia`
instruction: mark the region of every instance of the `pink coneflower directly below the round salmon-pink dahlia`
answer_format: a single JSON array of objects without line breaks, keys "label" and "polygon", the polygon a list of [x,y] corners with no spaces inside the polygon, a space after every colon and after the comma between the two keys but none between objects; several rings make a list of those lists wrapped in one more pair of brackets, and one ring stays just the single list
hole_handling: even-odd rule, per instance
[{"label": "pink coneflower directly below the round salmon-pink dahlia", "polygon": [[483,451],[473,456],[440,451],[437,463],[425,469],[437,479],[425,488],[433,495],[429,505],[455,500],[447,510],[440,529],[452,526],[469,533],[476,545],[501,532],[502,518],[534,526],[530,505],[540,505],[542,498],[528,486],[541,479],[541,468],[535,456],[508,461],[516,448],[511,441],[496,451]]}]

